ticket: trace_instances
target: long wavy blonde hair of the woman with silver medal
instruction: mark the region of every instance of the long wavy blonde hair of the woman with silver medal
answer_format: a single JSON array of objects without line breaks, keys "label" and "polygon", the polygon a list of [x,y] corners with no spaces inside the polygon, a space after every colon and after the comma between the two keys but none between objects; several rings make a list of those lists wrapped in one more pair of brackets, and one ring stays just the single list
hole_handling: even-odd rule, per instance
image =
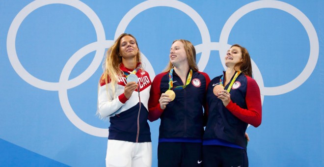
[{"label": "long wavy blonde hair of the woman with silver medal", "polygon": [[[103,79],[105,79],[106,83],[108,83],[108,82],[111,83],[113,97],[115,96],[115,91],[116,91],[115,87],[118,82],[118,77],[122,77],[124,75],[122,70],[120,70],[120,68],[119,68],[122,63],[122,57],[119,54],[120,40],[124,36],[131,36],[132,38],[134,38],[136,46],[138,48],[136,38],[132,34],[123,33],[123,34],[119,35],[119,37],[116,39],[114,44],[108,49],[107,55],[106,55],[107,58],[105,60],[106,67],[104,70]],[[137,63],[141,62],[139,48],[138,48],[138,53],[136,55],[136,62]],[[108,78],[109,78],[109,81],[108,81]]]}]

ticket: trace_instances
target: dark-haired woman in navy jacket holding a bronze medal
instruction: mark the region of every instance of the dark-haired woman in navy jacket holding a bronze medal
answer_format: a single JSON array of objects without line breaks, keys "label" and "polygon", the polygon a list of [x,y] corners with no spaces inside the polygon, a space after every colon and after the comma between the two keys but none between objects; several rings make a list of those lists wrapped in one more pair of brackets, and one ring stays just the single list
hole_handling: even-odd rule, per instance
[{"label": "dark-haired woman in navy jacket holding a bronze medal", "polygon": [[233,45],[225,56],[223,75],[207,90],[208,120],[203,138],[204,167],[248,167],[245,131],[261,124],[258,84],[252,79],[250,56]]}]

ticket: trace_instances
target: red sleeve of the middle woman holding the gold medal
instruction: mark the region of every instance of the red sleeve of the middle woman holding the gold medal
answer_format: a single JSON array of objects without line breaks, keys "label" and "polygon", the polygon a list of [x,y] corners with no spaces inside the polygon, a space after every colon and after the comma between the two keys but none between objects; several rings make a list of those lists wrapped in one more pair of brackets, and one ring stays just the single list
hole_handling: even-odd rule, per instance
[{"label": "red sleeve of the middle woman holding the gold medal", "polygon": [[161,89],[160,89],[162,77],[163,77],[163,73],[157,75],[154,78],[152,85],[151,85],[150,99],[148,102],[148,108],[149,108],[148,120],[150,120],[151,122],[159,119],[163,112],[163,110],[160,107],[160,102],[159,102],[159,99],[162,94]]}]

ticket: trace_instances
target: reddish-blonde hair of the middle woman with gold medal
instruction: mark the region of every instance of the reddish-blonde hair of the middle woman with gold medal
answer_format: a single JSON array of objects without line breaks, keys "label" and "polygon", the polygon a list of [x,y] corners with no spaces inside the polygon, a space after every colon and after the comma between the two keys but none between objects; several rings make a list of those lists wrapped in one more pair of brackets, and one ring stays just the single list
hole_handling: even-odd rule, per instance
[{"label": "reddish-blonde hair of the middle woman with gold medal", "polygon": [[[198,71],[198,66],[196,63],[196,50],[192,45],[192,43],[185,39],[176,39],[172,42],[172,44],[174,44],[177,41],[180,41],[184,44],[189,68],[192,69],[193,71]],[[171,63],[171,61],[169,61],[168,65],[165,67],[163,72],[168,72],[170,71],[171,68],[173,68],[173,64]]]}]

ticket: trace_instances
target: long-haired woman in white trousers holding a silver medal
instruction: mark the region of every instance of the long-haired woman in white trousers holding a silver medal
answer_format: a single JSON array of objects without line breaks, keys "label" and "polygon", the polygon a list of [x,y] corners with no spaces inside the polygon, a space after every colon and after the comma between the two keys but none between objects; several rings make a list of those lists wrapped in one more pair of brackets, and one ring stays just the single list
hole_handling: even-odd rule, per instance
[{"label": "long-haired woman in white trousers holding a silver medal", "polygon": [[151,80],[135,37],[123,33],[108,49],[98,88],[98,111],[110,121],[106,166],[151,167],[147,122]]}]

